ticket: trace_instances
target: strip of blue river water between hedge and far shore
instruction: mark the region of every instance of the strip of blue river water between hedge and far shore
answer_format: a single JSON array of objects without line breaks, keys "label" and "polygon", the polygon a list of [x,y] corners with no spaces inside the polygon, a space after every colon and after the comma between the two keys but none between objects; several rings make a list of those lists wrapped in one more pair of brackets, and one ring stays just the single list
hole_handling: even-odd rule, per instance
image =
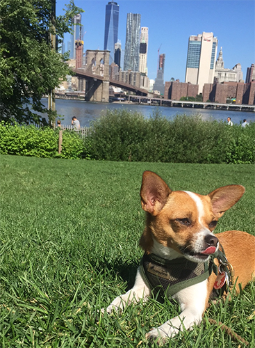
[{"label": "strip of blue river water between hedge and far shore", "polygon": [[[47,106],[47,99],[42,100]],[[118,104],[118,103],[94,103],[83,102],[81,100],[61,100],[56,99],[56,110],[58,114],[63,115],[61,121],[63,125],[71,125],[73,116],[80,121],[81,127],[89,127],[90,121],[99,118],[105,114],[107,110],[125,109],[128,111],[137,111],[142,113],[146,118],[153,115],[153,111],[160,111],[166,118],[174,118],[177,114],[186,113],[186,115],[194,115],[199,113],[203,120],[223,120],[227,121],[231,117],[233,123],[240,124],[244,118],[248,122],[255,121],[255,112],[246,111],[227,111],[227,110],[208,110],[208,109],[192,109],[179,108],[170,106],[149,106],[138,104]]]}]

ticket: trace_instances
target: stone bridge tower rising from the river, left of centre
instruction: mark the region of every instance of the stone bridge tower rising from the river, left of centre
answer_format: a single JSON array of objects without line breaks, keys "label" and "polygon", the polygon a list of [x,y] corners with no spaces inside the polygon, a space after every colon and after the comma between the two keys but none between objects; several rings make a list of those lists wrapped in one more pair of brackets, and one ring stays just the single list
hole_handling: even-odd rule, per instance
[{"label": "stone bridge tower rising from the river, left of centre", "polygon": [[91,74],[100,75],[102,79],[87,79],[85,100],[87,102],[109,101],[109,58],[110,51],[86,51],[86,70]]}]

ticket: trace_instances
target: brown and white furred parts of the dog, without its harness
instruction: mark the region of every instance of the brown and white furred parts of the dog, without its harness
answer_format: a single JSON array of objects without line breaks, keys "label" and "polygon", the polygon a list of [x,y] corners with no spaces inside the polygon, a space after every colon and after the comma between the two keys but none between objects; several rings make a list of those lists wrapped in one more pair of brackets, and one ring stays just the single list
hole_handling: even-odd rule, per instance
[{"label": "brown and white furred parts of the dog, without its harness", "polygon": [[[207,196],[172,191],[156,173],[145,171],[140,190],[142,209],[147,212],[146,227],[140,239],[145,255],[156,255],[164,260],[184,257],[205,264],[221,244],[235,271],[233,281],[238,292],[238,284],[245,287],[255,274],[255,237],[241,231],[222,232],[216,237],[213,230],[217,220],[238,202],[244,192],[241,185],[220,187]],[[243,255],[245,264],[240,262]],[[199,324],[216,278],[211,273],[205,280],[173,294],[172,298],[180,304],[181,314],[149,331],[147,338],[164,342],[179,330]],[[122,310],[141,299],[147,301],[151,291],[140,265],[133,288],[110,303],[107,312]]]}]

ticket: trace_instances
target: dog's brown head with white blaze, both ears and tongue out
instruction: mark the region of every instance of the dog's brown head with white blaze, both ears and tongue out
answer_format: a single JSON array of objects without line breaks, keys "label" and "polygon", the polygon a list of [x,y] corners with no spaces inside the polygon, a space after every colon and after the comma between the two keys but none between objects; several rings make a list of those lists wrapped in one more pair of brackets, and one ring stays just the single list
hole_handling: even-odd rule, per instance
[{"label": "dog's brown head with white blaze, both ears and tongue out", "polygon": [[147,226],[140,239],[146,252],[157,246],[195,262],[205,262],[219,247],[217,220],[242,197],[241,185],[220,187],[207,196],[172,191],[156,173],[145,171],[140,190]]}]

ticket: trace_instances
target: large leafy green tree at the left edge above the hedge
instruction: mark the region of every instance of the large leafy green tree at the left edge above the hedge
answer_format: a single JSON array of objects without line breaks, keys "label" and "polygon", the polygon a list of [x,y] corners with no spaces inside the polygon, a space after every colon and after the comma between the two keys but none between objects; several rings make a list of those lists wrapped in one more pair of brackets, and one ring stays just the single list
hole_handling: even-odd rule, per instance
[{"label": "large leafy green tree at the left edge above the hedge", "polygon": [[41,99],[70,72],[67,56],[52,49],[49,33],[63,38],[72,31],[72,17],[83,10],[71,0],[53,26],[52,1],[0,1],[0,120],[42,123],[37,112],[49,120],[56,116]]}]

